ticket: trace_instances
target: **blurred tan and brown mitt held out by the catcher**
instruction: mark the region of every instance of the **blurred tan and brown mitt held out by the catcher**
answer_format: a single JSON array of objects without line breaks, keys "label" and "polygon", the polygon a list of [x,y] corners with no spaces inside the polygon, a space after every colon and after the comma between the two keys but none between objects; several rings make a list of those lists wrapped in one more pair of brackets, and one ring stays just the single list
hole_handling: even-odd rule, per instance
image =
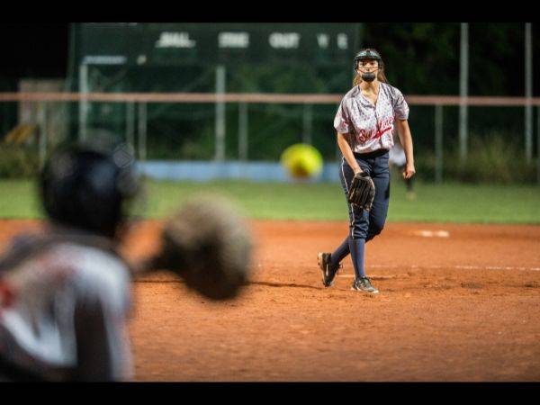
[{"label": "blurred tan and brown mitt held out by the catcher", "polygon": [[251,235],[233,206],[222,198],[187,202],[166,220],[161,242],[148,266],[174,272],[208,298],[234,298],[247,284]]}]

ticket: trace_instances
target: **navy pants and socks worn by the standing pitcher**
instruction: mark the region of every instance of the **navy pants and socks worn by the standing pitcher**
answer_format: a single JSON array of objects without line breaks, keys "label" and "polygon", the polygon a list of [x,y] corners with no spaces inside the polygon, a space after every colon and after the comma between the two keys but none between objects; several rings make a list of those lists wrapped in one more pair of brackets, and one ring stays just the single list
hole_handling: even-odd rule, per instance
[{"label": "navy pants and socks worn by the standing pitcher", "polygon": [[[355,154],[356,162],[375,184],[375,196],[372,209],[364,211],[347,201],[349,213],[349,232],[343,243],[332,253],[330,266],[337,268],[339,263],[353,253],[353,265],[356,277],[365,276],[364,271],[364,244],[379,235],[384,228],[388,203],[390,201],[390,169],[388,166],[388,150],[381,149],[366,154]],[[346,196],[353,182],[355,172],[342,159],[339,177]]]}]

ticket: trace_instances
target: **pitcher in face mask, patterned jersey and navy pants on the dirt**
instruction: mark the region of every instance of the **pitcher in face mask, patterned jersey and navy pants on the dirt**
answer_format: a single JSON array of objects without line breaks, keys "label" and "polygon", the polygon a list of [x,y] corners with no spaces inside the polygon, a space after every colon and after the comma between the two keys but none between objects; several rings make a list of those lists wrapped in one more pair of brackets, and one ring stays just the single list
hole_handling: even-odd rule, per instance
[{"label": "pitcher in face mask, patterned jersey and navy pants on the dirt", "polygon": [[[379,293],[365,275],[365,242],[383,230],[390,201],[389,150],[393,146],[394,124],[405,150],[403,177],[415,174],[412,137],[408,123],[409,106],[403,94],[388,84],[383,59],[375,49],[362,49],[355,58],[354,87],[343,97],[334,128],[343,160],[340,179],[346,194],[349,214],[347,238],[332,253],[319,253],[322,282],[329,287],[350,253],[355,268],[352,289]],[[351,187],[356,178],[367,179],[374,187],[373,200],[365,210],[350,202]],[[373,195],[373,194],[372,194]]]}]

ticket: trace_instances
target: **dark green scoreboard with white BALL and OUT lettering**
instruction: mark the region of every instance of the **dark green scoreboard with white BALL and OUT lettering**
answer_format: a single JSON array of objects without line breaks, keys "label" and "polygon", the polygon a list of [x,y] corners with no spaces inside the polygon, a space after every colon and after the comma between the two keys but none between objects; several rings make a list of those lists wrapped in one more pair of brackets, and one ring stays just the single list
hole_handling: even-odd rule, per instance
[{"label": "dark green scoreboard with white BALL and OUT lettering", "polygon": [[343,66],[360,23],[76,23],[77,64],[128,66],[303,63]]}]

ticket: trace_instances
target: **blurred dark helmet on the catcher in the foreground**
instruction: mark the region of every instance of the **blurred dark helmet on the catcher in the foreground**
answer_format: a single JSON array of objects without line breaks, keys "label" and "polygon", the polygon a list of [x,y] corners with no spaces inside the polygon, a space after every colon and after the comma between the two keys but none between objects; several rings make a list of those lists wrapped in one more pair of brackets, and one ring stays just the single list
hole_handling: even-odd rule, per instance
[{"label": "blurred dark helmet on the catcher in the foreground", "polygon": [[139,190],[126,145],[74,144],[53,153],[40,174],[40,197],[50,220],[113,238],[125,205]]}]

